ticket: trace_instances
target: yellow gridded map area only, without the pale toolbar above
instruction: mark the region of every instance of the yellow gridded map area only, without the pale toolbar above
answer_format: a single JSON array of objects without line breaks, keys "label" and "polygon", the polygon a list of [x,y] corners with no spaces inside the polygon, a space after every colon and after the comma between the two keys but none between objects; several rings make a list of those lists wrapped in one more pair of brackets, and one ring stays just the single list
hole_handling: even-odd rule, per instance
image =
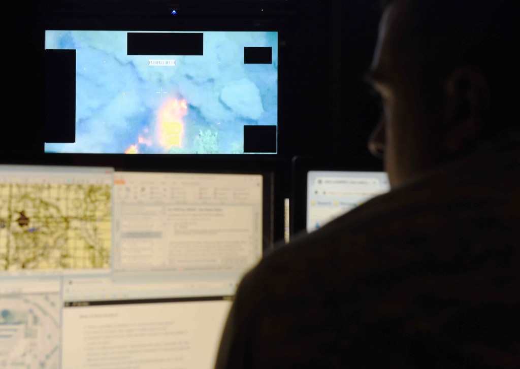
[{"label": "yellow gridded map area only, without the pale toolbar above", "polygon": [[110,267],[111,186],[0,183],[0,270]]}]

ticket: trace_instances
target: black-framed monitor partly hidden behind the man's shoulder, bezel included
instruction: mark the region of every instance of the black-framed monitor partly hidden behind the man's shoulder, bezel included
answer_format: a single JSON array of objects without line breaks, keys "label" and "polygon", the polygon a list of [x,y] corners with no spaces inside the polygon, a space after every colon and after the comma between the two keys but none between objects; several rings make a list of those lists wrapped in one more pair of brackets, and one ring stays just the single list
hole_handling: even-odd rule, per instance
[{"label": "black-framed monitor partly hidden behind the man's shoulder, bezel included", "polygon": [[298,156],[292,163],[291,234],[313,232],[389,190],[388,176],[367,158]]}]

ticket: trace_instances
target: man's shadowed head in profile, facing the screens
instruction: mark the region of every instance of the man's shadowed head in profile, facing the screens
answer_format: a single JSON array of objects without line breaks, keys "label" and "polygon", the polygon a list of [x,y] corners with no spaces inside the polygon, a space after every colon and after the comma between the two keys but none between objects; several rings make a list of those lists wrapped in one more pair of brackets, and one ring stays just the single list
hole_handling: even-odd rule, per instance
[{"label": "man's shadowed head in profile, facing the screens", "polygon": [[383,106],[369,149],[383,157],[393,187],[518,124],[506,93],[518,82],[518,3],[385,5],[367,76]]}]

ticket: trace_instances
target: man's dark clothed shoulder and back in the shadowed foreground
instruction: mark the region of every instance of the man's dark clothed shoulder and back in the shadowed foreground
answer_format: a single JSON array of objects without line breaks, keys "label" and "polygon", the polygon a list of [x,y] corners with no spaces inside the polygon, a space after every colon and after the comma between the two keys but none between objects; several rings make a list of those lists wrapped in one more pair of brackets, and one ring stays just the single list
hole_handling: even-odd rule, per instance
[{"label": "man's dark clothed shoulder and back in the shadowed foreground", "polygon": [[[355,358],[368,367],[378,358],[366,347],[382,342],[383,357],[405,362],[415,347],[422,366],[437,349],[512,357],[514,150],[496,146],[438,168],[266,255],[239,285],[225,335],[239,346],[229,352],[255,367],[346,367]],[[496,327],[506,328],[497,335]],[[478,360],[490,367],[492,359]]]}]

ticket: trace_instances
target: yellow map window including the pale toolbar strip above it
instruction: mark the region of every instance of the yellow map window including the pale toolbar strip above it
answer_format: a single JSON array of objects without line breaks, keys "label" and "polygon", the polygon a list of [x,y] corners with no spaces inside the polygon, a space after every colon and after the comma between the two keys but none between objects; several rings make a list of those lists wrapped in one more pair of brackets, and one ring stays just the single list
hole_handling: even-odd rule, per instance
[{"label": "yellow map window including the pale toolbar strip above it", "polygon": [[0,165],[0,275],[106,272],[110,167]]}]

